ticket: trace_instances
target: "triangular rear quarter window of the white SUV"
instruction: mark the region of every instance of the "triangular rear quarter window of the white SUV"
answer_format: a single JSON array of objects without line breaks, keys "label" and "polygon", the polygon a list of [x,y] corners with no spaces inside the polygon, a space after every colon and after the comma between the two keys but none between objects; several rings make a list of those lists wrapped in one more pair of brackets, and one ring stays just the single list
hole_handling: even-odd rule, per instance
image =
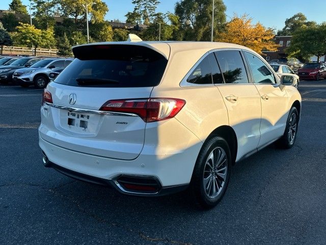
[{"label": "triangular rear quarter window of the white SUV", "polygon": [[187,78],[188,83],[212,84],[209,56],[206,56]]}]

